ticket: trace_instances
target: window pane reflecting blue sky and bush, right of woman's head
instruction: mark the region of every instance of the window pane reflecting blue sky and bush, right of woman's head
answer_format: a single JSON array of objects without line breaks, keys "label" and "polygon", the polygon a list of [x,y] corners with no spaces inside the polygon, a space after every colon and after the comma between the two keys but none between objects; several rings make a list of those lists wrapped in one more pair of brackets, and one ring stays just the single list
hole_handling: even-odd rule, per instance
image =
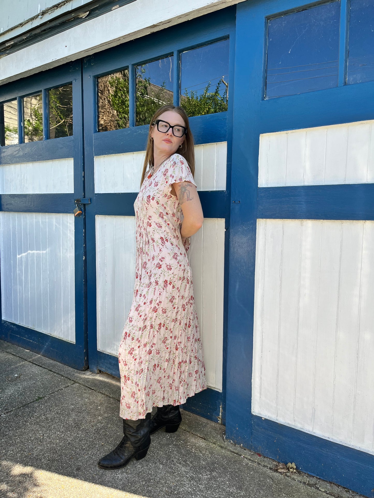
[{"label": "window pane reflecting blue sky and bush, right of woman's head", "polygon": [[181,106],[188,116],[227,111],[229,40],[181,56]]}]

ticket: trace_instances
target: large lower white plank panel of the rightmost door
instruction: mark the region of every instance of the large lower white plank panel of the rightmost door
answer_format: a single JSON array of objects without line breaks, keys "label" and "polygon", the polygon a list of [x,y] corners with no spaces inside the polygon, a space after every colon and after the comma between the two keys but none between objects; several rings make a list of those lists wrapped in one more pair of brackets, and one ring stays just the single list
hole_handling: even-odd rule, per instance
[{"label": "large lower white plank panel of the rightmost door", "polygon": [[374,453],[374,222],[258,220],[252,412]]}]

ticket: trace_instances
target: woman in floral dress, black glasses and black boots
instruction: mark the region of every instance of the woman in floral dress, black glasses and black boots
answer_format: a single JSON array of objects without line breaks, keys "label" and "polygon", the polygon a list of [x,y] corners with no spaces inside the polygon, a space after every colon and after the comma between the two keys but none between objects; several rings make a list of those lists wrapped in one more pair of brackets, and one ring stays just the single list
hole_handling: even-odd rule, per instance
[{"label": "woman in floral dress, black glasses and black boots", "polygon": [[[182,421],[179,405],[206,389],[187,259],[189,237],[203,222],[193,173],[187,114],[181,107],[163,106],[149,127],[134,203],[135,288],[118,352],[124,437],[98,462],[104,469],[144,458],[150,434],[162,427],[175,432]],[[151,420],[153,406],[157,413]]]}]

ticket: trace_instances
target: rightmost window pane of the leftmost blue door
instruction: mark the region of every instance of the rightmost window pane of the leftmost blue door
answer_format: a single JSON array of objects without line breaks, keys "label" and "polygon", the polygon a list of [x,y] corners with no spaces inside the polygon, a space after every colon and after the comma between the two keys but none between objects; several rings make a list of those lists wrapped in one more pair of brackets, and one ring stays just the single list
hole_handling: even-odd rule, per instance
[{"label": "rightmost window pane of the leftmost blue door", "polygon": [[49,138],[73,134],[73,85],[49,90]]}]

